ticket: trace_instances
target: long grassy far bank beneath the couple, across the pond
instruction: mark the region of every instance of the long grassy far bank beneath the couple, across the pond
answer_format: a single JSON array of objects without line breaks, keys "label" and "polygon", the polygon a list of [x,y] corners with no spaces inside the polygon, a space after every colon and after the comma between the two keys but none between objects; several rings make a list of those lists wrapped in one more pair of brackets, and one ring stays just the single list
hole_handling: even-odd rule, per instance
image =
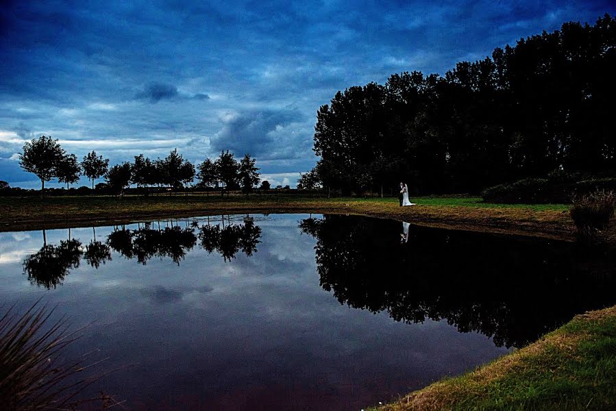
[{"label": "long grassy far bank beneath the couple, across the pond", "polygon": [[419,225],[571,239],[574,225],[565,205],[502,205],[473,197],[421,197],[414,207],[397,199],[283,196],[177,195],[160,197],[0,197],[0,231],[125,223],[165,216],[243,212],[360,214]]}]

